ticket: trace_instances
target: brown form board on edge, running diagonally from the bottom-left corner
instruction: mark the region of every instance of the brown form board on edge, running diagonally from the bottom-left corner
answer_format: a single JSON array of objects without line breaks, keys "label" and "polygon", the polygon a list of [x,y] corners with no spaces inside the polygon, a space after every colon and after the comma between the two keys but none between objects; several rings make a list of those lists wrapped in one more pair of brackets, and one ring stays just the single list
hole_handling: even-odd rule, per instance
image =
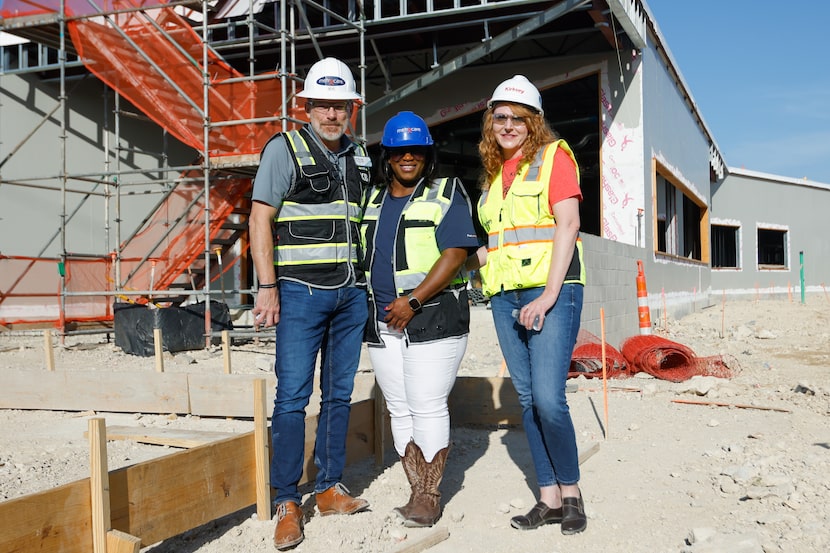
[{"label": "brown form board on edge, running diagonally from the bottom-left corner", "polygon": [[[306,420],[306,464],[313,468],[317,417]],[[374,400],[353,404],[347,463],[372,456],[373,426]],[[110,472],[108,553],[137,553],[138,543],[150,545],[253,505],[255,450],[255,432],[248,432]],[[306,474],[302,482],[308,481]],[[85,478],[0,502],[0,551],[93,551],[91,486]]]}]

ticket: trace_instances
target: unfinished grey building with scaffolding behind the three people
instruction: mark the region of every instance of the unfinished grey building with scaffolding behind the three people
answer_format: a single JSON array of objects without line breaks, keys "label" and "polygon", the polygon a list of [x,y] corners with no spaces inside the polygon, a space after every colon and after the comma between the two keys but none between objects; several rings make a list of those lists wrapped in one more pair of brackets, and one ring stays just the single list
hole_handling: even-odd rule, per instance
[{"label": "unfinished grey building with scaffolding behind the three people", "polygon": [[638,265],[655,322],[830,280],[830,187],[727,166],[644,0],[2,0],[0,40],[2,329],[201,302],[210,333],[207,298],[250,305],[259,152],[327,56],[358,82],[355,139],[414,111],[474,198],[489,94],[534,82],[580,166],[583,326],[603,313],[612,342]]}]

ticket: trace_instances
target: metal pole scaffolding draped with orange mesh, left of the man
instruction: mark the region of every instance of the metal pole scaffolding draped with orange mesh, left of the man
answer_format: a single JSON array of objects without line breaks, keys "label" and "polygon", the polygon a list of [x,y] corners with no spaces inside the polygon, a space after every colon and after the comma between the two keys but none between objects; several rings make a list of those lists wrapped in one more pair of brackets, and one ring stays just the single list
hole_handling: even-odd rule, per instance
[{"label": "metal pole scaffolding draped with orange mesh, left of the man", "polygon": [[[240,246],[239,242],[247,227],[246,201],[249,201],[259,149],[275,132],[304,122],[304,112],[293,100],[302,82],[294,67],[296,58],[289,54],[294,44],[291,37],[297,33],[294,14],[286,17],[287,4],[286,1],[279,4],[279,29],[264,27],[256,21],[253,0],[249,0],[245,10],[248,37],[258,37],[259,41],[279,38],[280,67],[267,73],[255,71],[255,40],[248,41],[250,63],[245,73],[216,53],[210,44],[211,34],[223,26],[226,29],[236,26],[237,22],[210,24],[212,14],[206,1],[138,0],[97,7],[91,2],[69,0],[52,7],[47,3],[44,8],[43,4],[20,0],[2,5],[0,31],[36,35],[41,40],[51,31],[58,38],[54,44],[58,52],[54,68],[59,73],[59,101],[43,122],[54,115],[61,120],[62,162],[58,175],[0,182],[4,186],[59,193],[62,209],[60,231],[53,237],[61,241],[59,258],[0,256],[3,265],[0,323],[6,327],[54,324],[63,335],[71,332],[70,323],[94,321],[106,326],[113,317],[113,298],[162,307],[198,294],[210,305],[207,299],[220,293],[211,290],[212,282],[223,278],[222,273],[238,263],[247,248],[247,244]],[[302,4],[294,8],[308,23]],[[326,13],[327,21],[336,20],[355,35],[362,34],[362,17],[348,19],[323,6],[319,8]],[[309,34],[313,37],[313,33]],[[71,44],[66,42],[66,37],[71,37]],[[47,41],[53,38],[49,36]],[[4,63],[3,73],[42,71],[43,62],[50,60],[48,54],[43,55],[43,45],[37,49],[41,54],[37,56],[38,63],[26,67],[26,56],[20,54],[28,50],[24,50],[22,43],[18,45],[17,71],[9,71],[8,63]],[[10,61],[8,51],[4,51],[3,59]],[[65,163],[67,70],[80,62],[116,93],[115,166],[94,174],[70,174]],[[150,186],[161,197],[126,239],[122,238],[121,228],[120,209],[125,190],[122,183],[131,173],[146,171],[125,171],[120,167],[121,117],[135,116],[121,108],[122,98],[138,108],[141,117],[152,120],[166,134],[199,152],[199,159],[191,165],[153,168],[152,172],[159,173],[158,179],[133,179],[132,186]],[[355,122],[356,118],[353,128]],[[0,162],[0,169],[33,135],[34,131],[7,154]],[[105,159],[109,158],[109,152],[105,153]],[[43,181],[58,184],[42,184]],[[88,189],[83,188],[84,184]],[[108,207],[110,203],[114,205],[116,246],[113,251],[97,258],[67,252],[66,225],[72,217],[69,194],[80,194],[80,203],[100,196]],[[200,212],[203,217],[199,217]],[[235,214],[241,215],[234,218]],[[109,221],[106,226],[109,232]],[[59,275],[57,295],[52,290],[37,289],[38,283],[50,287],[53,280],[50,273],[55,264]],[[243,286],[230,292],[250,291]],[[225,292],[223,285],[222,296]],[[49,306],[50,299],[56,297],[58,304]],[[205,330],[209,336],[209,308]]]}]

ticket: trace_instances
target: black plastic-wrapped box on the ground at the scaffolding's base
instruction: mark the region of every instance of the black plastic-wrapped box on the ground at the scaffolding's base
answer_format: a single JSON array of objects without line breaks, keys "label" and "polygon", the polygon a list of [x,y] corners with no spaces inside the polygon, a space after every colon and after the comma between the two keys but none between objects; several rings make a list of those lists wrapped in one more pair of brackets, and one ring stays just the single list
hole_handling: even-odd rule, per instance
[{"label": "black plastic-wrapped box on the ground at the scaffolding's base", "polygon": [[[150,308],[132,303],[113,305],[115,345],[125,353],[152,357],[155,355],[153,329],[161,329],[162,348],[177,352],[204,349],[205,347],[205,303],[199,302],[185,307]],[[212,332],[232,330],[228,306],[222,302],[210,302],[210,325]],[[218,345],[216,337],[211,343]]]}]

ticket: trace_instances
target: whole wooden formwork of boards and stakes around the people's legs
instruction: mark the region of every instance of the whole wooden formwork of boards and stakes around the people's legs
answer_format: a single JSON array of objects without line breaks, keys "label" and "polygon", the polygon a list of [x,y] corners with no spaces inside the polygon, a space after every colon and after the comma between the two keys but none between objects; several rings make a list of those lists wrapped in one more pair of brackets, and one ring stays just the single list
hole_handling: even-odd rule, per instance
[{"label": "whole wooden formwork of boards and stakes around the people's legs", "polygon": [[[0,551],[137,553],[142,545],[251,505],[260,518],[270,519],[266,405],[273,401],[272,379],[100,371],[46,372],[36,379],[31,371],[11,371],[6,376],[0,408],[253,417],[255,429],[108,471],[105,421],[93,417],[90,477],[0,503]],[[347,463],[373,455],[382,460],[391,442],[378,397],[375,391],[373,398],[352,404]],[[521,422],[516,394],[504,378],[458,378],[450,410],[458,426]],[[314,477],[316,428],[317,417],[307,417],[301,483]]]}]

